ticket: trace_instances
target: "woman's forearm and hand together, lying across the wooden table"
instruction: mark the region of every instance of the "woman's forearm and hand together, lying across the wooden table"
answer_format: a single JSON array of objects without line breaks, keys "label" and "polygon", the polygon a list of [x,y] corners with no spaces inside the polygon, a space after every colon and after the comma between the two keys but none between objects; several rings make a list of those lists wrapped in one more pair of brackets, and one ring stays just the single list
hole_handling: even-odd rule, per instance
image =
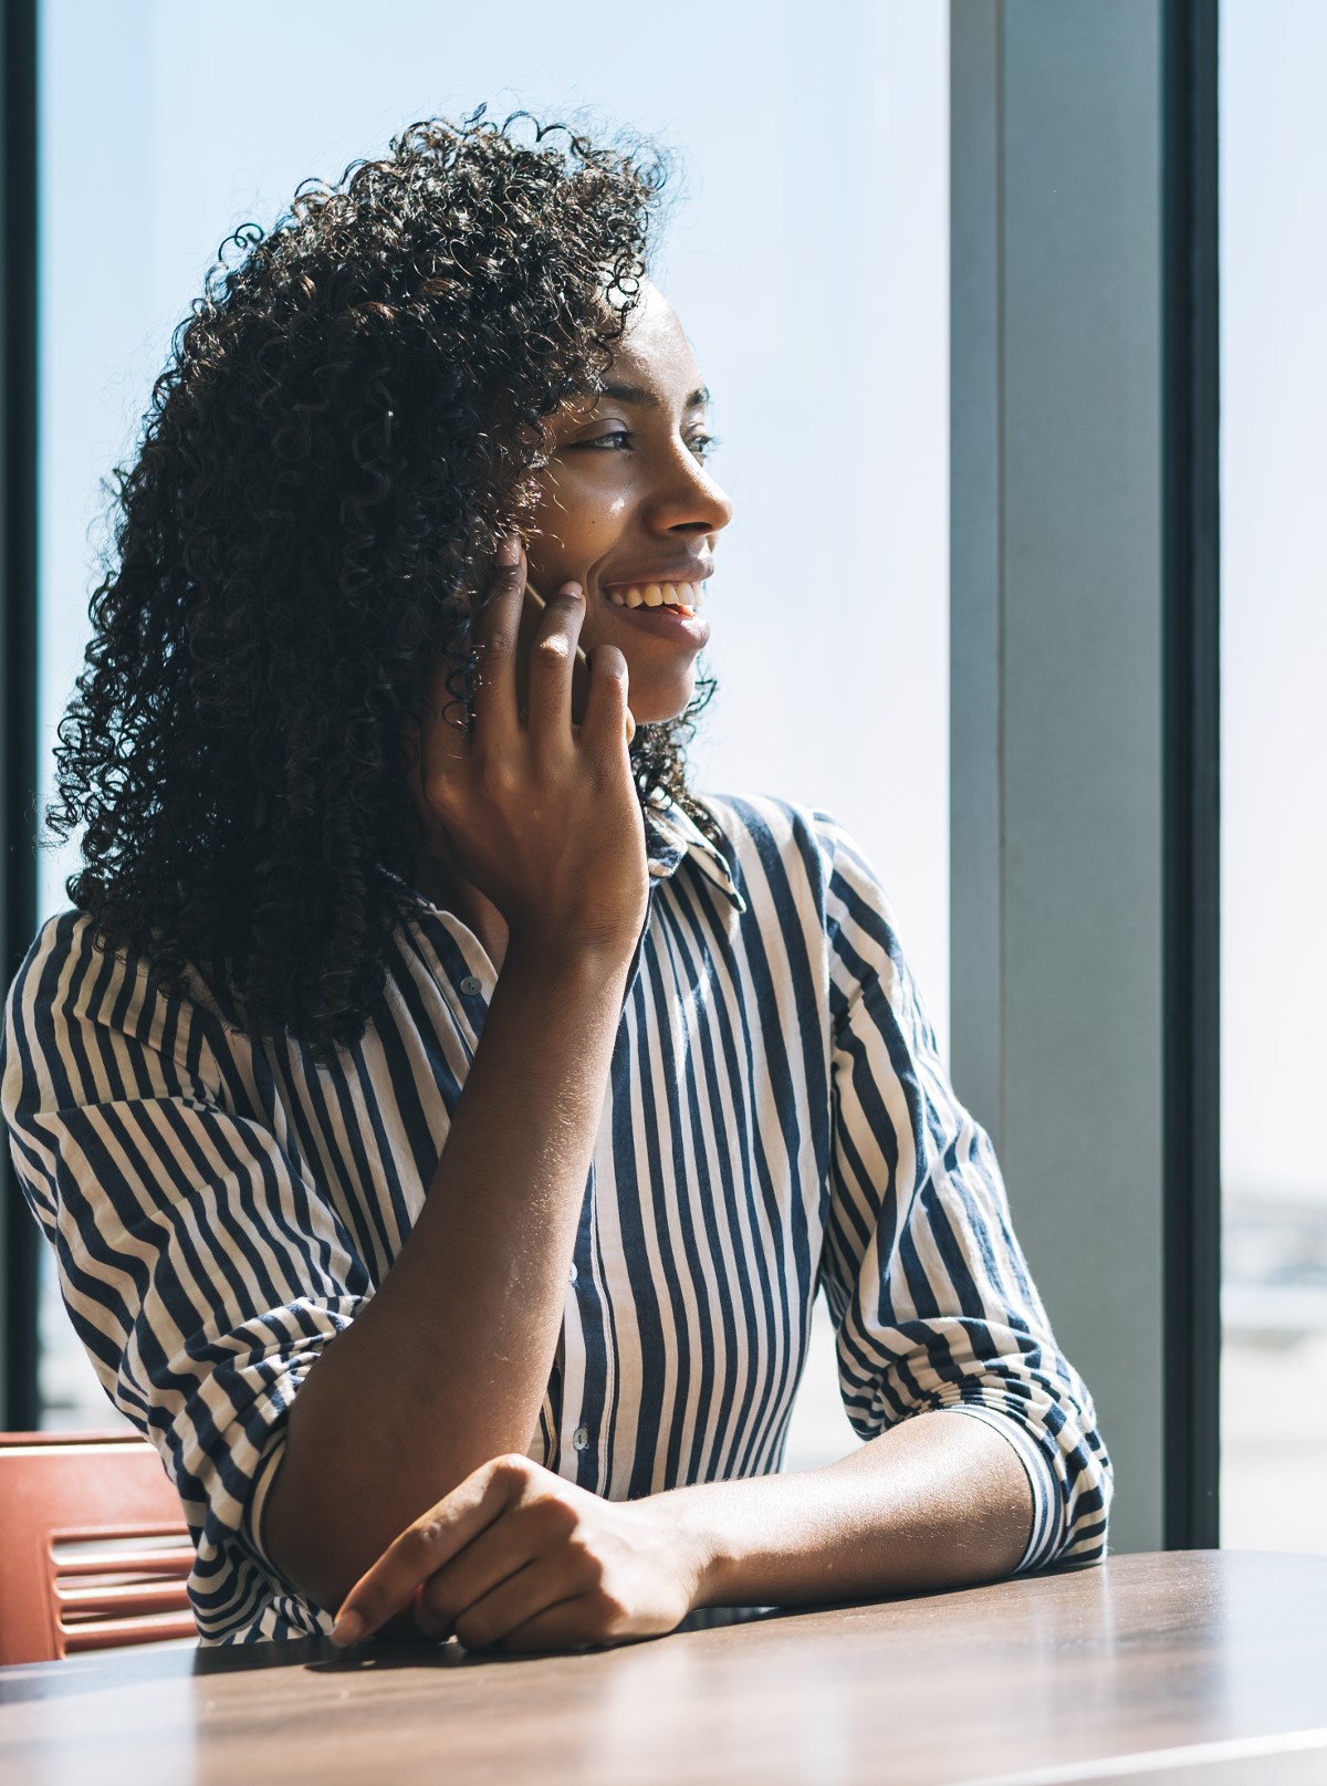
[{"label": "woman's forearm and hand together, lying across the wooden table", "polygon": [[355,1582],[334,1638],[455,1632],[470,1648],[579,1648],[675,1631],[700,1606],[797,1606],[1009,1575],[1032,1529],[1009,1441],[970,1415],[916,1415],[797,1475],[604,1500],[495,1457]]}]

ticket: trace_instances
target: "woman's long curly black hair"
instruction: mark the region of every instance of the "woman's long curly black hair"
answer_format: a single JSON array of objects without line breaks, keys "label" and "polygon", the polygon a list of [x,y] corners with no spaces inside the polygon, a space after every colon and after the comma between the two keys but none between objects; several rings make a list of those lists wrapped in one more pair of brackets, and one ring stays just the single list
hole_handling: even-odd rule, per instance
[{"label": "woman's long curly black hair", "polygon": [[[466,591],[530,514],[547,420],[602,388],[672,177],[648,139],[484,111],[221,245],[113,475],[59,729],[46,818],[84,827],[66,891],[100,945],[320,1057],[363,1036],[413,904],[423,666],[464,695]],[[682,747],[711,691],[632,743],[641,798],[705,829]]]}]

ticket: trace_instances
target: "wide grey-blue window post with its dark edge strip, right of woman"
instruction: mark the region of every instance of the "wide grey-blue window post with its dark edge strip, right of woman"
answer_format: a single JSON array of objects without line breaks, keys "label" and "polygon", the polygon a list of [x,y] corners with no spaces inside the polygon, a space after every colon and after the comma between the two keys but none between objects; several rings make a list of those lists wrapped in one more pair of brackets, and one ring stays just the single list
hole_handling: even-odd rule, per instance
[{"label": "wide grey-blue window post with its dark edge strip, right of woman", "polygon": [[1218,1541],[1216,29],[950,5],[954,1079],[1123,1550]]}]

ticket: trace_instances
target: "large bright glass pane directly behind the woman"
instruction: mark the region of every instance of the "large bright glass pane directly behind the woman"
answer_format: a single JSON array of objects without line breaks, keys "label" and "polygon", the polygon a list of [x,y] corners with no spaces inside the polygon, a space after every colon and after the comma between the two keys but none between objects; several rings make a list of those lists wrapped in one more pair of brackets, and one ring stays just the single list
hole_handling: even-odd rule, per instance
[{"label": "large bright glass pane directly behind the woman", "polygon": [[[704,45],[704,55],[698,46]],[[680,150],[657,270],[714,393],[736,502],[711,586],[698,788],[834,811],[875,859],[948,1031],[948,70],[927,0],[657,14],[402,0],[43,7],[43,730],[96,580],[98,479],[132,450],[220,241],[414,118],[591,107]],[[96,170],[114,170],[105,182]],[[89,177],[95,184],[89,188]],[[854,750],[843,748],[845,714]],[[52,854],[43,916],[73,859]],[[57,1298],[48,1422],[105,1418]],[[91,1386],[91,1402],[88,1390]],[[845,1448],[825,1334],[791,1461]]]}]

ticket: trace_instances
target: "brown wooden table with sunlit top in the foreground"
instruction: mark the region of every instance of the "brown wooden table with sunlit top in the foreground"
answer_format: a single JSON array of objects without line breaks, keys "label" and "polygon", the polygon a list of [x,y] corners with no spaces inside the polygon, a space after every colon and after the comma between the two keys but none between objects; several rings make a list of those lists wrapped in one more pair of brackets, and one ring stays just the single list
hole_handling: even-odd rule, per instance
[{"label": "brown wooden table with sunlit top in the foreground", "polygon": [[0,1668],[0,1781],[1327,1782],[1327,1556],[1122,1556],[727,1616],[580,1656],[309,1641]]}]

